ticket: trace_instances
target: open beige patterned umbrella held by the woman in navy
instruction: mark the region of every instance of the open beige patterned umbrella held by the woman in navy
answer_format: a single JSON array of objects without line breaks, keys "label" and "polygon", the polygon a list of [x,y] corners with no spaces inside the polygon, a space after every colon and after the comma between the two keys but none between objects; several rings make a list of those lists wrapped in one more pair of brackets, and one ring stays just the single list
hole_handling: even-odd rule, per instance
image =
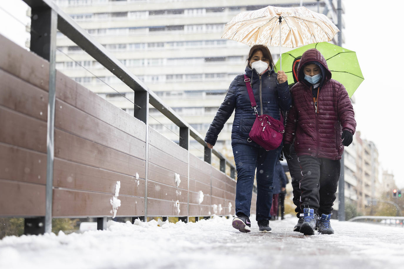
[{"label": "open beige patterned umbrella held by the woman in navy", "polygon": [[[295,48],[311,43],[332,40],[339,32],[326,15],[311,11],[304,6],[281,8],[267,6],[242,12],[225,25],[222,38],[235,40],[248,46]],[[280,42],[281,40],[281,42]],[[282,65],[280,66],[282,70]]]}]

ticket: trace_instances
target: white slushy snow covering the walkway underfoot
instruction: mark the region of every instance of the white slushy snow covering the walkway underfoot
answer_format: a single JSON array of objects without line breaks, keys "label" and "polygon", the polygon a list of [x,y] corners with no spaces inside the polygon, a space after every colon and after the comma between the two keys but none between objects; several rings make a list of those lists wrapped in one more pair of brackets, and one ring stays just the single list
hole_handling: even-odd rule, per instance
[{"label": "white slushy snow covering the walkway underfoot", "polygon": [[293,232],[297,218],[270,221],[271,234],[240,233],[231,218],[196,223],[108,222],[105,231],[8,236],[0,268],[400,268],[404,228],[332,220],[336,234]]}]

